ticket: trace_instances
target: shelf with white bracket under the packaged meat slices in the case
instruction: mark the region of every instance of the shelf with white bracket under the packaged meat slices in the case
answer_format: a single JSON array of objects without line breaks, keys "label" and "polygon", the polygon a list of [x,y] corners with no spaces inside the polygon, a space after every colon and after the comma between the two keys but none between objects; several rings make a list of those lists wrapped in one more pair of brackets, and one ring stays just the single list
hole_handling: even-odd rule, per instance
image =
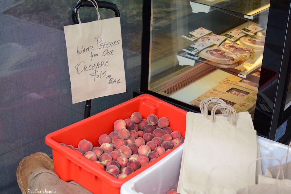
[{"label": "shelf with white bracket under the packaged meat slices in the case", "polygon": [[[179,51],[177,54],[177,59],[179,61],[179,65],[194,66],[197,63],[207,64],[207,62],[205,62],[205,59],[197,57],[195,55],[191,55],[190,53],[187,53],[185,51]],[[261,68],[262,59],[263,59],[263,51],[259,55],[257,55],[255,58],[248,59],[244,63],[234,68],[220,68],[220,67],[214,67],[211,64],[207,64],[207,65],[212,66],[216,69],[220,69],[227,73],[230,73],[232,75],[236,75],[238,77],[248,79],[250,81],[258,83],[259,78],[257,76],[253,76],[252,74]]]}]

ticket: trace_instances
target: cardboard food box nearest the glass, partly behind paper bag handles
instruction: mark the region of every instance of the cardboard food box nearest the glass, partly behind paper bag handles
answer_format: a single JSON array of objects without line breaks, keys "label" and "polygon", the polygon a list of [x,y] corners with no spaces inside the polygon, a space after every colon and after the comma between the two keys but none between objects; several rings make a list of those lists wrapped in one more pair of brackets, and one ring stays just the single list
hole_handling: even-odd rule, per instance
[{"label": "cardboard food box nearest the glass, partly behind paper bag handles", "polygon": [[[236,110],[236,112],[248,111],[251,114],[254,111],[254,105],[252,105],[252,104],[241,102],[240,100],[232,99],[232,98],[229,98],[227,96],[224,96],[224,95],[221,95],[219,93],[212,92],[212,91],[207,91],[203,95],[192,100],[190,103],[199,107],[199,104],[203,99],[210,98],[210,97],[217,97],[217,98],[222,99],[228,106],[233,107]],[[214,105],[211,104],[209,106],[208,110],[211,111],[213,106]],[[221,114],[221,112],[219,110],[217,110],[217,113]]]}]

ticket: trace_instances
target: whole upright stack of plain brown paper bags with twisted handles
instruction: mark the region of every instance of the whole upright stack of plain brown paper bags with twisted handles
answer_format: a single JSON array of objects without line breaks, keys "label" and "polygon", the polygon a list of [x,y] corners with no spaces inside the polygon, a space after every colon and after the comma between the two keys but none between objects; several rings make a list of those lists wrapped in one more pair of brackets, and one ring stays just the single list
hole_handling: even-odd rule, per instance
[{"label": "whole upright stack of plain brown paper bags with twisted handles", "polygon": [[[215,115],[218,109],[222,115]],[[256,164],[250,164],[259,152],[251,115],[236,113],[218,98],[204,99],[200,110],[186,114],[177,192],[227,194],[255,184]]]}]

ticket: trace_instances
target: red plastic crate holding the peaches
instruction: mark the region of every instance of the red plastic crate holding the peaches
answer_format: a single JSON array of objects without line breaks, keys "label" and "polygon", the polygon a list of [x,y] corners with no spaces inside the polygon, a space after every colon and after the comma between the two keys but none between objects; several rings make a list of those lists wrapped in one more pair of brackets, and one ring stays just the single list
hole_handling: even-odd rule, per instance
[{"label": "red plastic crate holding the peaches", "polygon": [[92,142],[93,146],[100,146],[99,136],[112,132],[113,123],[117,119],[130,118],[135,111],[140,112],[142,118],[145,119],[150,114],[155,114],[158,118],[167,117],[170,123],[169,127],[185,136],[187,112],[154,96],[143,94],[48,134],[45,143],[52,148],[55,173],[62,180],[74,180],[93,193],[120,193],[123,183],[159,162],[172,150],[124,179],[116,179],[102,170],[98,164],[80,155],[78,151],[64,147],[59,143],[71,144],[77,148],[81,139],[87,139]]}]

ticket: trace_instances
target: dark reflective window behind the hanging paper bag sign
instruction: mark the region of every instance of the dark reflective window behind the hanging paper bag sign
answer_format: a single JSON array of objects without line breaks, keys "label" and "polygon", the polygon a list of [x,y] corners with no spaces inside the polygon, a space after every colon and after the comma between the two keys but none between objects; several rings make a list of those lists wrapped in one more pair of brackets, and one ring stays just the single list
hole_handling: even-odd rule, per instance
[{"label": "dark reflective window behind the hanging paper bag sign", "polygon": [[[92,99],[91,115],[132,98],[140,87],[142,2],[109,2],[120,11],[127,91]],[[63,29],[74,24],[77,0],[0,3],[0,193],[19,193],[19,161],[35,152],[51,156],[45,136],[84,118],[85,103],[72,104]],[[115,16],[99,11],[101,19]],[[80,8],[82,22],[96,15],[94,8]]]}]

